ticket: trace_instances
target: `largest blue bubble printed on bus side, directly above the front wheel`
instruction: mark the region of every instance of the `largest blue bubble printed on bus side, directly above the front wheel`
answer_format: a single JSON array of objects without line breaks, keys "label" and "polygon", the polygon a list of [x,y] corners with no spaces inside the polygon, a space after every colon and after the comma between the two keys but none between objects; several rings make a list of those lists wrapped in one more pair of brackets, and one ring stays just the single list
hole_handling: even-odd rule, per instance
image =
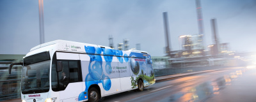
[{"label": "largest blue bubble printed on bus side, directly above the front wheel", "polygon": [[89,64],[89,73],[93,80],[100,80],[102,76],[102,64],[99,61],[92,61]]}]

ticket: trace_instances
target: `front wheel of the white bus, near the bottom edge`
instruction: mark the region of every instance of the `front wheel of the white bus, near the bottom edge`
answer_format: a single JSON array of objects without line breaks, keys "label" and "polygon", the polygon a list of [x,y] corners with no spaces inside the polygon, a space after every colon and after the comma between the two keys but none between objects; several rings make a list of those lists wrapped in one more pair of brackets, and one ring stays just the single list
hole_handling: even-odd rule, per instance
[{"label": "front wheel of the white bus, near the bottom edge", "polygon": [[100,97],[99,91],[95,87],[92,87],[91,89],[89,89],[88,101],[90,102],[99,101],[99,97]]}]

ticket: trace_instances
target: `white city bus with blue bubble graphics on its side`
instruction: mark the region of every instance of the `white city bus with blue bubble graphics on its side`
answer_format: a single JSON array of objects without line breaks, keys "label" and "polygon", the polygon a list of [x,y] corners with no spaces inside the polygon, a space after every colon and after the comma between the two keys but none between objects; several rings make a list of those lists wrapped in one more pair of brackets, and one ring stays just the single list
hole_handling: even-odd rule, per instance
[{"label": "white city bus with blue bubble graphics on its side", "polygon": [[22,65],[22,102],[99,101],[156,82],[147,52],[56,40],[31,48]]}]

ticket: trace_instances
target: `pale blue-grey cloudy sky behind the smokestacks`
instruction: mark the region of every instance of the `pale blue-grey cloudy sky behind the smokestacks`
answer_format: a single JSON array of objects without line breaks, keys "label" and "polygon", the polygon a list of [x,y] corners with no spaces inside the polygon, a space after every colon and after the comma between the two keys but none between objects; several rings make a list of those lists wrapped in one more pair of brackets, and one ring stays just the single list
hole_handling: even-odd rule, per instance
[{"label": "pale blue-grey cloudy sky behind the smokestacks", "polygon": [[[205,45],[212,44],[211,18],[217,19],[221,43],[230,50],[256,51],[255,0],[201,0]],[[152,56],[164,55],[163,12],[168,12],[172,50],[179,36],[198,34],[195,0],[45,0],[45,42],[68,40],[114,46],[129,40]],[[0,1],[0,54],[26,54],[39,39],[38,1]]]}]

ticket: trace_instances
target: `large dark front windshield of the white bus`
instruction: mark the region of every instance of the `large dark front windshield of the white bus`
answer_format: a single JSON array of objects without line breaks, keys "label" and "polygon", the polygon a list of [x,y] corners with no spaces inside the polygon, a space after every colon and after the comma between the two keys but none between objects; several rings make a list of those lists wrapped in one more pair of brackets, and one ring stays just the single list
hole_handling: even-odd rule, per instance
[{"label": "large dark front windshield of the white bus", "polygon": [[22,69],[22,94],[35,94],[49,91],[49,52],[31,55],[24,58]]}]

